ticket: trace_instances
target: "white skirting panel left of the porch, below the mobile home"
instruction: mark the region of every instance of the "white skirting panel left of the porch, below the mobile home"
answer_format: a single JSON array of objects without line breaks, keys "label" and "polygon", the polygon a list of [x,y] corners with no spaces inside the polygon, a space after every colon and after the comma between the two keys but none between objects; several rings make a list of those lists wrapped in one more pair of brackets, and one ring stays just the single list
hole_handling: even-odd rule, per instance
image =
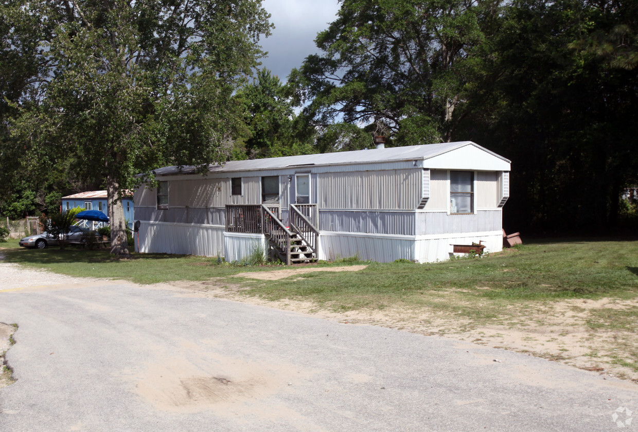
[{"label": "white skirting panel left of the porch, below the mobile home", "polygon": [[139,251],[142,253],[223,256],[224,229],[215,225],[142,221],[140,231],[135,235],[135,248],[137,250],[139,234]]}]

